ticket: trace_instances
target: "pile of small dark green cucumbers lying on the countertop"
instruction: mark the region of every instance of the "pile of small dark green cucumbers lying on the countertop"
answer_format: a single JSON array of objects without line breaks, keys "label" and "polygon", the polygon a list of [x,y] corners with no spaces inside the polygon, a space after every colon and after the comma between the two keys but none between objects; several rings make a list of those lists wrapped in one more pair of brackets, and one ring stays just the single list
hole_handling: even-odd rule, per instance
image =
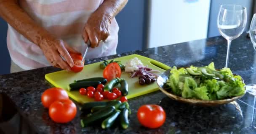
[{"label": "pile of small dark green cucumbers lying on the countertop", "polygon": [[129,127],[128,116],[131,114],[131,110],[127,101],[123,103],[121,101],[90,102],[83,104],[80,110],[83,113],[89,111],[81,119],[82,127],[97,124],[99,121],[102,129],[111,127],[117,121],[120,122],[123,129]]}]

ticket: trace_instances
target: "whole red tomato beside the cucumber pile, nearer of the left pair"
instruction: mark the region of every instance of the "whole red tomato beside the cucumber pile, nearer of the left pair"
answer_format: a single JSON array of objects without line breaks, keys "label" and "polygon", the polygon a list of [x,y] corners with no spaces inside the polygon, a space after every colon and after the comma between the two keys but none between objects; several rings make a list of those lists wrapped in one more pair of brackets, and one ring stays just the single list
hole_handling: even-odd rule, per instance
[{"label": "whole red tomato beside the cucumber pile, nearer of the left pair", "polygon": [[54,101],[49,108],[50,118],[57,123],[67,123],[75,118],[77,107],[71,100]]}]

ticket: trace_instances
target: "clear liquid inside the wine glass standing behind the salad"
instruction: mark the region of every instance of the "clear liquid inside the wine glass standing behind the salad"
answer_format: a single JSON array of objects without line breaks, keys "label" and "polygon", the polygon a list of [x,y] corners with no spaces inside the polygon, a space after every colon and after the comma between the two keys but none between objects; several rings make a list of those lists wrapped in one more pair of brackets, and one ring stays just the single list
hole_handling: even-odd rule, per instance
[{"label": "clear liquid inside the wine glass standing behind the salad", "polygon": [[238,25],[219,25],[219,32],[227,40],[233,40],[243,33],[243,26]]}]

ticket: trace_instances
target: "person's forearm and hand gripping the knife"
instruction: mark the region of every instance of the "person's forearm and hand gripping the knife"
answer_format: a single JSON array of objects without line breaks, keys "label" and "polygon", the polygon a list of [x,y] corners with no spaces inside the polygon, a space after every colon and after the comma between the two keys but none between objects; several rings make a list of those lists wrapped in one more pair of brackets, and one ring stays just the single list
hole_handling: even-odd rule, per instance
[{"label": "person's forearm and hand gripping the knife", "polygon": [[128,0],[104,0],[101,6],[90,16],[83,30],[85,43],[90,40],[91,47],[99,46],[99,41],[106,40],[110,33],[111,20],[127,4]]}]

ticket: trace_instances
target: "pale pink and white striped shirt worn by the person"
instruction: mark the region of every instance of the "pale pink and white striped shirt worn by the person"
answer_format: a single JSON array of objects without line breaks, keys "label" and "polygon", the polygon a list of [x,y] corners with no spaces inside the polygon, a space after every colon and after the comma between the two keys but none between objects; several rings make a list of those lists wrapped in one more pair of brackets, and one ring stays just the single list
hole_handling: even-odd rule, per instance
[{"label": "pale pink and white striped shirt worn by the person", "polygon": [[[50,33],[77,51],[85,50],[82,31],[88,17],[104,0],[19,0],[21,7]],[[119,26],[115,18],[107,42],[88,49],[86,59],[116,54]],[[8,25],[7,46],[11,59],[24,70],[51,66],[42,50]],[[84,53],[84,52],[82,52]]]}]

